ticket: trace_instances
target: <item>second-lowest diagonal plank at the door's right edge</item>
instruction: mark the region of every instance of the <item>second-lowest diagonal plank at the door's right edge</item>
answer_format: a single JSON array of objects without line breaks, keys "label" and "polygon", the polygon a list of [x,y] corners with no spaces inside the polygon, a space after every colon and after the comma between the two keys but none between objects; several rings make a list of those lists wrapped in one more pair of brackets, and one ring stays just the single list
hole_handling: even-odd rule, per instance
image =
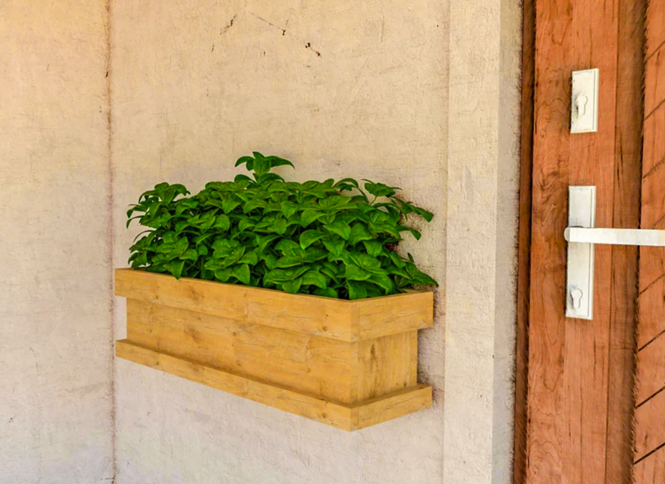
[{"label": "second-lowest diagonal plank at the door's right edge", "polygon": [[639,461],[646,454],[665,444],[663,416],[665,416],[665,392],[656,394],[635,409],[635,461]]}]

